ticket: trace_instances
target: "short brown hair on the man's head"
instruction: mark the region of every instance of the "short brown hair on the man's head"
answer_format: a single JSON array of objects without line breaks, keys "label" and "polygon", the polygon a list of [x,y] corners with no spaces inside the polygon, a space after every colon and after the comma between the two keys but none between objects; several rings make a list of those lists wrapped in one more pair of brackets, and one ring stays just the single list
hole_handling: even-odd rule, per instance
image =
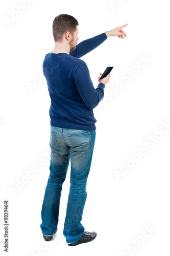
[{"label": "short brown hair on the man's head", "polygon": [[65,32],[69,31],[73,34],[76,31],[76,27],[79,25],[76,18],[68,14],[60,14],[55,17],[53,21],[53,36],[54,40],[62,41]]}]

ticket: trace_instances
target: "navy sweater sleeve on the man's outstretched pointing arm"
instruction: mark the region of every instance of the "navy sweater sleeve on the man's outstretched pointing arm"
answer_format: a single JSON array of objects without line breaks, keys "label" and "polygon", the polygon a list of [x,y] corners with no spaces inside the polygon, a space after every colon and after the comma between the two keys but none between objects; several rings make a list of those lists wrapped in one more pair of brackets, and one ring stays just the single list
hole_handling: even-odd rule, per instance
[{"label": "navy sweater sleeve on the man's outstretched pointing arm", "polygon": [[69,52],[69,54],[76,58],[81,58],[85,54],[91,52],[96,47],[100,46],[107,39],[106,33],[102,33],[100,35],[96,35],[92,38],[86,39],[80,42],[76,50]]}]

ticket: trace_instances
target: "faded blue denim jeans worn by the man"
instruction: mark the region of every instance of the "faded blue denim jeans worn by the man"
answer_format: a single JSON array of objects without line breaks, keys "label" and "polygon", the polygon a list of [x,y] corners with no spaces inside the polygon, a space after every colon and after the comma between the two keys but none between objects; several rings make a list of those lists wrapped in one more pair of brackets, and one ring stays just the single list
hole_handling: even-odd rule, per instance
[{"label": "faded blue denim jeans worn by the man", "polygon": [[84,233],[80,223],[87,198],[86,184],[90,171],[95,131],[75,130],[51,125],[50,176],[45,188],[40,225],[45,236],[57,230],[62,184],[71,164],[70,188],[63,234],[67,243],[75,243]]}]

